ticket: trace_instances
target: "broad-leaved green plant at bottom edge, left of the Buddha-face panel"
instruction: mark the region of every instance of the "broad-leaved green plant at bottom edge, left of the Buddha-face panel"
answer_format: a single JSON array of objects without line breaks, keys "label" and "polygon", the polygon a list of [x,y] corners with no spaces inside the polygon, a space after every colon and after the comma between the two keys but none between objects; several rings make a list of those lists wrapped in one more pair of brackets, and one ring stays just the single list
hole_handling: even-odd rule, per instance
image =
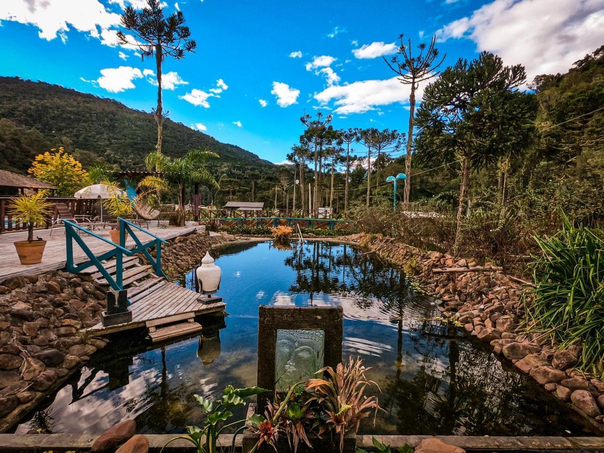
[{"label": "broad-leaved green plant at bottom edge, left of the Buddha-face panel", "polygon": [[[165,443],[161,451],[176,439],[184,439],[191,442],[198,453],[216,453],[218,435],[223,429],[240,423],[260,422],[260,420],[257,420],[257,417],[254,417],[254,419],[237,420],[236,422],[225,424],[228,419],[233,417],[233,413],[230,411],[231,408],[245,406],[244,398],[265,391],[265,389],[260,387],[233,388],[232,385],[228,385],[223,390],[222,397],[215,401],[210,401],[203,396],[194,395],[205,415],[204,424],[201,428],[199,426],[187,426],[187,435],[177,435],[176,437],[173,437]],[[243,428],[244,426],[241,426],[237,431]]]}]

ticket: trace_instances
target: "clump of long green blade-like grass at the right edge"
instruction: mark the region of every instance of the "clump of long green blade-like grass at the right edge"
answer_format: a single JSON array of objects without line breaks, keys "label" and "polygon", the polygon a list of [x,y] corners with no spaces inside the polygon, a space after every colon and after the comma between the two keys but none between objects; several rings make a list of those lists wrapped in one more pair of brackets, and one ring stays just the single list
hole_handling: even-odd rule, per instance
[{"label": "clump of long green blade-like grass at the right edge", "polygon": [[579,368],[604,375],[604,240],[563,216],[553,236],[536,237],[541,255],[532,263],[535,288],[527,320],[567,347],[582,345]]}]

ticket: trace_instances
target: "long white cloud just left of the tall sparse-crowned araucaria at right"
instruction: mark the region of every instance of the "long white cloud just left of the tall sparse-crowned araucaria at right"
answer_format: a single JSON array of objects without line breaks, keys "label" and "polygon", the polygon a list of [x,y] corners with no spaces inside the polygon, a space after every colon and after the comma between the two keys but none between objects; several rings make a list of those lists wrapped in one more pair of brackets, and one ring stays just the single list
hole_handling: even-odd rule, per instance
[{"label": "long white cloud just left of the tall sparse-crowned araucaria at right", "polygon": [[[416,96],[421,98],[427,82],[420,83]],[[347,85],[333,85],[315,94],[315,99],[326,106],[330,101],[336,114],[348,115],[375,110],[395,102],[408,103],[410,86],[403,85],[397,77],[385,80],[360,80]]]}]

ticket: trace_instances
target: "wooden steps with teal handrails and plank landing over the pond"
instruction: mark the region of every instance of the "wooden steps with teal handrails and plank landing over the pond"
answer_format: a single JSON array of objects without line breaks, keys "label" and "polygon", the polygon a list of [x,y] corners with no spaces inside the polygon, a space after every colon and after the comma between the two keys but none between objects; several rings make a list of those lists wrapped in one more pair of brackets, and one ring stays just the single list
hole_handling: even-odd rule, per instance
[{"label": "wooden steps with teal handrails and plank landing over the pond", "polygon": [[[187,335],[203,329],[194,317],[205,313],[220,312],[226,304],[216,301],[204,302],[198,292],[182,288],[170,282],[161,269],[161,245],[164,239],[125,219],[118,219],[120,243],[63,220],[66,238],[66,269],[94,282],[106,291],[126,290],[128,309],[132,320],[111,326],[98,323],[86,329],[92,335],[106,335],[123,330],[145,327],[153,342],[176,336]],[[137,236],[140,231],[152,237],[147,243]],[[95,255],[83,240],[85,233],[112,246],[108,251]],[[134,241],[133,248],[126,248],[126,236]],[[88,260],[74,262],[74,242],[82,249]],[[155,255],[150,252],[155,250]],[[141,261],[143,254],[149,264]]]}]

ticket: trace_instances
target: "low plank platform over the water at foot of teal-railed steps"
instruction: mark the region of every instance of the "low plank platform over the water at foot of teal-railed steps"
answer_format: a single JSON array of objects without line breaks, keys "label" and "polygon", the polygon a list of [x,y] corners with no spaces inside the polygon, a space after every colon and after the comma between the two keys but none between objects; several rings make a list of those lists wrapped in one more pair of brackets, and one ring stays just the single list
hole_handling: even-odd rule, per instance
[{"label": "low plank platform over the water at foot of teal-railed steps", "polygon": [[132,312],[130,323],[116,324],[109,327],[103,327],[102,324],[98,323],[86,330],[92,335],[106,335],[121,330],[154,327],[168,322],[186,320],[204,313],[220,312],[226,307],[223,302],[213,304],[198,302],[199,295],[197,292],[182,288],[182,286],[169,281],[162,281],[159,288],[130,305],[129,308]]}]

